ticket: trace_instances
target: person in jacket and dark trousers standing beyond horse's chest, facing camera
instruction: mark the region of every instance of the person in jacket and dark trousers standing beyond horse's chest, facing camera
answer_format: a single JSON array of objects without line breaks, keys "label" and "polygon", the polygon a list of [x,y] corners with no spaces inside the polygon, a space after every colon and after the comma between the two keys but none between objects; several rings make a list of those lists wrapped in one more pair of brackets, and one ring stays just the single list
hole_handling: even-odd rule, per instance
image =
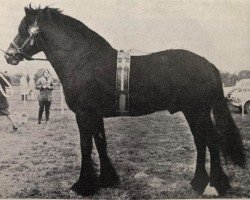
[{"label": "person in jacket and dark trousers standing beyond horse's chest, facing camera", "polygon": [[38,96],[39,112],[38,112],[38,124],[41,124],[43,111],[45,109],[45,123],[49,122],[50,106],[52,101],[52,90],[54,84],[50,77],[50,72],[47,69],[43,69],[42,77],[37,80],[36,88],[40,90]]}]

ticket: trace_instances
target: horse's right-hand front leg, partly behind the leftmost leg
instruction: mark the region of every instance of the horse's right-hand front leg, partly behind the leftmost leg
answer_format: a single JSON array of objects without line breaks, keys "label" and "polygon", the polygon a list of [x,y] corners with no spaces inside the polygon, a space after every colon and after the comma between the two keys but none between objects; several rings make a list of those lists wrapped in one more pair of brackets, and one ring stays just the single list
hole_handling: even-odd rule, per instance
[{"label": "horse's right-hand front leg, partly behind the leftmost leg", "polygon": [[94,133],[94,139],[100,158],[100,186],[112,187],[119,183],[119,177],[107,154],[107,142],[103,118],[98,117],[97,121],[97,131]]}]

